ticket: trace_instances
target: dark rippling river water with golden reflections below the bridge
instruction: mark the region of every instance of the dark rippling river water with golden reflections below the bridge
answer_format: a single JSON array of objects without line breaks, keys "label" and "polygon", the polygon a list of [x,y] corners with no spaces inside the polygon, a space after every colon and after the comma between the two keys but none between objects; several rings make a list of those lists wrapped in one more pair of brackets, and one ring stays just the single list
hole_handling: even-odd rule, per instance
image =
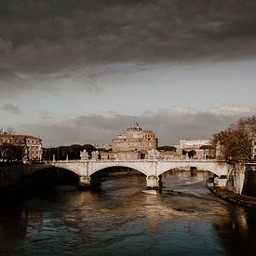
[{"label": "dark rippling river water with golden reflections below the bridge", "polygon": [[108,177],[99,190],[47,188],[0,212],[1,255],[253,255],[256,211],[209,193],[208,172]]}]

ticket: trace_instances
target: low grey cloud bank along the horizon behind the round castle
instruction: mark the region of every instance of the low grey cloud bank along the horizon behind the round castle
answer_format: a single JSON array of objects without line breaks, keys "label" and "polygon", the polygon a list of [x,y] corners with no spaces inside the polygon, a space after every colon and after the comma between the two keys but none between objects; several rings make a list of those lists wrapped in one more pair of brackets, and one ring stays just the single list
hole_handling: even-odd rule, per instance
[{"label": "low grey cloud bank along the horizon behind the round castle", "polygon": [[[222,111],[222,113],[221,113]],[[255,114],[254,109],[219,113],[191,112],[181,108],[160,110],[156,114],[138,116],[142,128],[153,129],[159,144],[176,144],[180,139],[208,139],[213,133],[235,123],[240,116]],[[45,144],[110,143],[121,130],[133,124],[133,116],[108,113],[107,115],[80,115],[58,124],[24,125],[21,132],[40,135]]]}]

